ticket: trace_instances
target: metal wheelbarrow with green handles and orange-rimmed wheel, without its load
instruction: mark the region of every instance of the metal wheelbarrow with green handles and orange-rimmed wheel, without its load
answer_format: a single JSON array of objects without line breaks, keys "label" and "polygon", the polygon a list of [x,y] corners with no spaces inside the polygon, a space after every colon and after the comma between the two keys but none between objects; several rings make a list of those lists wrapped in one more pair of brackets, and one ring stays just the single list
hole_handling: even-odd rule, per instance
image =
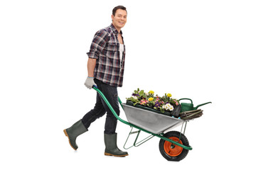
[{"label": "metal wheelbarrow with green handles and orange-rimmed wheel, without its load", "polygon": [[[132,128],[129,132],[126,142],[124,143],[124,149],[138,147],[144,142],[150,140],[152,137],[159,137],[159,151],[161,155],[169,161],[181,161],[186,157],[188,151],[192,150],[192,147],[188,143],[188,139],[184,135],[188,120],[181,120],[168,115],[161,115],[159,113],[154,113],[153,111],[146,111],[142,108],[129,106],[125,103],[122,103],[122,101],[118,97],[119,103],[124,109],[124,113],[127,117],[127,120],[129,121],[127,122],[125,120],[122,120],[122,118],[119,118],[117,113],[110,105],[109,101],[107,101],[107,98],[104,96],[104,94],[102,94],[102,91],[97,89],[95,86],[93,86],[93,89],[95,89],[97,93],[100,94],[100,96],[110,108],[110,111],[112,111],[117,120],[121,121],[126,125],[129,125]],[[178,125],[182,125],[181,132],[168,131]],[[133,131],[133,128],[136,128],[137,131]],[[149,133],[150,135],[143,140],[137,142],[141,131]],[[126,147],[129,136],[133,134],[137,134],[137,137],[134,140],[134,144],[130,147]]]}]

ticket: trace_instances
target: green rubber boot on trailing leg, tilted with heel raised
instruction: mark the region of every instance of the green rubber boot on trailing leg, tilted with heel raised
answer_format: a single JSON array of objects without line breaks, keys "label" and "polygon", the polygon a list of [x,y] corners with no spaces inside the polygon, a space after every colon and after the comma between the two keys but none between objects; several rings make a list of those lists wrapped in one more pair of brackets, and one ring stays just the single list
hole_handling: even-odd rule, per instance
[{"label": "green rubber boot on trailing leg, tilted with heel raised", "polygon": [[68,137],[70,146],[76,150],[78,149],[78,145],[75,142],[76,138],[82,133],[87,132],[88,130],[87,128],[85,128],[85,125],[82,124],[82,120],[78,120],[78,122],[76,122],[70,128],[65,129],[63,131],[65,135]]}]

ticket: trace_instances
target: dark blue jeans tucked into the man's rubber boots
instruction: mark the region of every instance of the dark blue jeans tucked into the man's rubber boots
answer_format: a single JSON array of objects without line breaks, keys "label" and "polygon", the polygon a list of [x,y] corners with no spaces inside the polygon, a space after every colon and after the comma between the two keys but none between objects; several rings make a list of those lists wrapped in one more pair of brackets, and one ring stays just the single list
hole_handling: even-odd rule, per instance
[{"label": "dark blue jeans tucked into the man's rubber boots", "polygon": [[[119,103],[118,103],[118,95],[117,95],[117,87],[110,86],[108,84],[103,83],[98,79],[94,79],[97,84],[97,88],[102,91],[102,93],[107,98],[107,101],[110,102],[114,111],[119,115]],[[100,97],[100,94],[97,94],[95,107],[86,113],[82,118],[82,123],[85,125],[85,128],[89,128],[90,124],[94,122],[97,118],[102,117],[107,112],[107,118],[105,121],[105,134],[114,134],[117,128],[117,118],[114,117],[112,111],[107,106],[105,101]]]}]

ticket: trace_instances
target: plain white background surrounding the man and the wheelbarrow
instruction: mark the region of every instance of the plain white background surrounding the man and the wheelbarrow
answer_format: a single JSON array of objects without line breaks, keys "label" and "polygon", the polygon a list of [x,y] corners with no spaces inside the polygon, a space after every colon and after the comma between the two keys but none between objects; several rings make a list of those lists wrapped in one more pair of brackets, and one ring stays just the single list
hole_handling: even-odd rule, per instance
[{"label": "plain white background surrounding the man and the wheelbarrow", "polygon": [[[157,137],[129,157],[105,157],[105,116],[78,137],[76,152],[63,133],[94,106],[96,92],[83,85],[86,52],[120,4],[128,11],[122,101],[140,88],[213,102],[188,123],[193,150],[181,162],[161,156]],[[1,1],[1,169],[255,169],[255,8],[246,0]],[[129,130],[118,123],[120,149]]]}]

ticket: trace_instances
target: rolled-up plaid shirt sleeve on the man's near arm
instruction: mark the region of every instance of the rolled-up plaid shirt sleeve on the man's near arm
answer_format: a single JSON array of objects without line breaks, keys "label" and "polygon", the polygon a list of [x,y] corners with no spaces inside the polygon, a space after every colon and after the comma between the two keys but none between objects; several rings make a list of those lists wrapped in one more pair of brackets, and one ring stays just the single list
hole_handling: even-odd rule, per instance
[{"label": "rolled-up plaid shirt sleeve on the man's near arm", "polygon": [[102,53],[104,47],[109,40],[109,36],[106,30],[99,30],[95,33],[95,36],[92,40],[92,45],[90,46],[90,52],[87,52],[88,57],[92,59],[97,59]]}]

